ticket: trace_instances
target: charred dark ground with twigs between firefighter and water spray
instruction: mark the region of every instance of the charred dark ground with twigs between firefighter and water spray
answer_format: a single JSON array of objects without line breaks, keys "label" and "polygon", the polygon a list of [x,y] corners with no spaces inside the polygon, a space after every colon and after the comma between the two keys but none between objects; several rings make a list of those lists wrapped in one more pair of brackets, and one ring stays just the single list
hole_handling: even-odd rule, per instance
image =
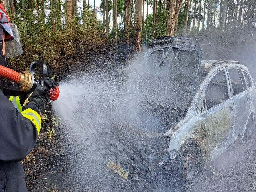
[{"label": "charred dark ground with twigs between firefighter and water spray", "polygon": [[65,175],[63,172],[69,166],[61,143],[58,136],[50,142],[45,128],[40,132],[36,147],[29,154],[29,161],[23,161],[28,192],[68,191],[68,185],[60,183],[60,178]]}]

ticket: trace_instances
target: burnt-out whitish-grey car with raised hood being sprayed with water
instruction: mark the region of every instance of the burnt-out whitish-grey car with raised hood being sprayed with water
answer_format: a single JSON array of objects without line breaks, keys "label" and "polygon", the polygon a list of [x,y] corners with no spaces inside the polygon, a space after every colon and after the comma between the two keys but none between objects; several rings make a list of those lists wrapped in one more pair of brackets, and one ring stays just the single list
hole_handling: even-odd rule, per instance
[{"label": "burnt-out whitish-grey car with raised hood being sprayed with water", "polygon": [[113,130],[122,134],[112,134],[114,142],[108,146],[113,151],[107,157],[111,178],[143,186],[150,177],[175,174],[188,187],[202,165],[251,136],[256,102],[252,77],[238,61],[202,60],[192,37],[154,39],[144,59],[148,68],[143,82],[154,85],[140,100],[146,125]]}]

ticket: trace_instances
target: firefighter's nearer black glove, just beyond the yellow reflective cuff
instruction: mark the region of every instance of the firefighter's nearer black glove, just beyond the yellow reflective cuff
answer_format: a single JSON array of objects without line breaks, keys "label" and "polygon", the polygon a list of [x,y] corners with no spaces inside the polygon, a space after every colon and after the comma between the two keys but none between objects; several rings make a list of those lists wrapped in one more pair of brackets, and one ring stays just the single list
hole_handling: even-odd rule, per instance
[{"label": "firefighter's nearer black glove, just beyond the yellow reflective cuff", "polygon": [[[24,110],[24,107],[28,108],[29,106],[29,108],[37,111],[40,115],[44,114],[47,96],[49,96],[49,94],[46,91],[46,87],[43,85],[37,86],[35,91],[30,93],[28,98],[25,100],[22,110]],[[39,111],[36,109],[36,107],[39,109]]]}]

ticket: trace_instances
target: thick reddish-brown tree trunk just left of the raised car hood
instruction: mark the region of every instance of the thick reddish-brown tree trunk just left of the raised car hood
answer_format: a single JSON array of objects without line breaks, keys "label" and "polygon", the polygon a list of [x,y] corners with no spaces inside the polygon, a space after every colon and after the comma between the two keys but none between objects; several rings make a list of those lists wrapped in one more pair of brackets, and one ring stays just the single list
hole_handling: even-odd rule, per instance
[{"label": "thick reddish-brown tree trunk just left of the raised car hood", "polygon": [[142,0],[137,0],[135,50],[141,52]]}]

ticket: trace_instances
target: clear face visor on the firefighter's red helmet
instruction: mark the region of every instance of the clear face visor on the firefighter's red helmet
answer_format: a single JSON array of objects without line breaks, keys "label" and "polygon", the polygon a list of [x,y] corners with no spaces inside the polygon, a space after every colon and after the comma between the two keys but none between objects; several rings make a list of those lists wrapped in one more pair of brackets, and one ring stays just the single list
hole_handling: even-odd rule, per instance
[{"label": "clear face visor on the firefighter's red helmet", "polygon": [[5,41],[5,57],[21,55],[23,51],[17,26],[13,23],[4,23],[2,26],[13,37]]}]

